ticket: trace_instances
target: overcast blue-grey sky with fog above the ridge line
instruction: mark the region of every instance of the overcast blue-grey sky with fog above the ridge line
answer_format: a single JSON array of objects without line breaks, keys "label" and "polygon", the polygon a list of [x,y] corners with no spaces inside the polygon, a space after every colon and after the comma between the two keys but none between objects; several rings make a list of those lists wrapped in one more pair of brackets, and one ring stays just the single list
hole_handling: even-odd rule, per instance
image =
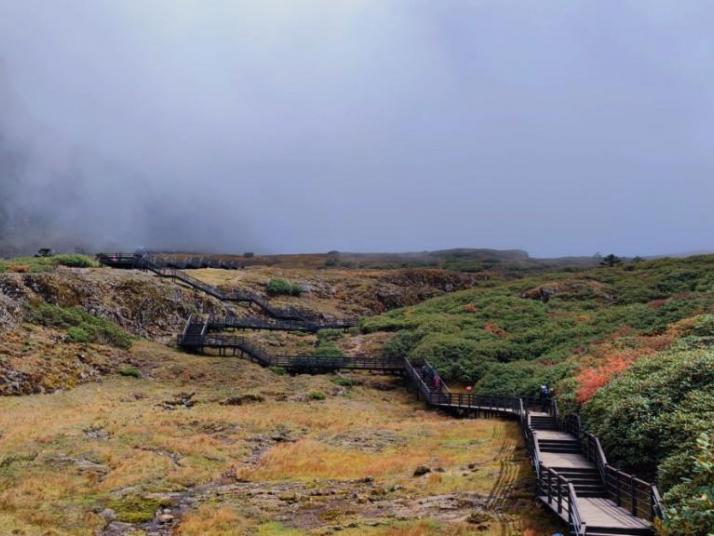
[{"label": "overcast blue-grey sky with fog above the ridge line", "polygon": [[0,242],[714,250],[714,2],[0,0]]}]

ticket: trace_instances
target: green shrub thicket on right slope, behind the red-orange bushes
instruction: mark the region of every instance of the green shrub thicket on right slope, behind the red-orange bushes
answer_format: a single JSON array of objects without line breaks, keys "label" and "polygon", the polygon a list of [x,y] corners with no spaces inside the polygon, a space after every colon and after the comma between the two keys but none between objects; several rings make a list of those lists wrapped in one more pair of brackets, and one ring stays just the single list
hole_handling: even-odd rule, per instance
[{"label": "green shrub thicket on right slope, behind the red-orange bushes", "polygon": [[[546,302],[530,299],[539,288],[551,289]],[[714,256],[701,256],[491,279],[363,319],[360,329],[397,331],[386,353],[433,361],[447,380],[526,394],[540,381],[563,384],[580,355],[620,332],[660,335],[713,308]]]}]

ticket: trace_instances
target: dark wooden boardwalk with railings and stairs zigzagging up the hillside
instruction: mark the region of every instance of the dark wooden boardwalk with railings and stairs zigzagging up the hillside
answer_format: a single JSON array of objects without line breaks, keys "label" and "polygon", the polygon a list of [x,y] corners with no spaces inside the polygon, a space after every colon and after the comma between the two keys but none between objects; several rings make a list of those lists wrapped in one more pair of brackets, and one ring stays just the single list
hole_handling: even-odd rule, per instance
[{"label": "dark wooden boardwalk with railings and stairs zigzagging up the hillside", "polygon": [[[538,498],[568,523],[574,536],[651,536],[662,517],[656,486],[611,466],[599,440],[584,431],[576,415],[561,417],[555,400],[540,406],[522,397],[451,392],[428,362],[406,357],[272,356],[245,337],[212,333],[225,329],[323,329],[292,310],[275,310],[262,298],[227,294],[179,270],[159,268],[140,256],[105,256],[104,264],[151,270],[224,301],[255,302],[275,320],[189,318],[178,345],[190,352],[213,349],[220,355],[249,358],[263,366],[294,373],[367,370],[403,375],[417,397],[431,407],[459,415],[497,415],[518,419],[537,478]],[[241,298],[241,299],[239,299]],[[339,326],[342,328],[342,326]],[[300,329],[302,328],[302,329]]]}]

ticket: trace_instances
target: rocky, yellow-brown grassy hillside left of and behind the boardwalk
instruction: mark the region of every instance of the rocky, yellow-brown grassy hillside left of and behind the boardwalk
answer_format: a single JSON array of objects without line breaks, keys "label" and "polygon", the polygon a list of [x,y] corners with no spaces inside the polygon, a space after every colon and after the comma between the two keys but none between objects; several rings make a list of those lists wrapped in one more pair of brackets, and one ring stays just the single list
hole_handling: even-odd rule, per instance
[{"label": "rocky, yellow-brown grassy hillside left of and behind the boardwalk", "polygon": [[[9,533],[495,536],[560,528],[533,496],[514,423],[425,411],[395,378],[279,375],[178,352],[171,346],[186,318],[224,315],[226,304],[144,272],[56,264],[12,260],[0,274],[0,394],[15,395],[0,397],[0,526]],[[192,273],[258,292],[287,277],[307,292],[277,301],[338,316],[477,283],[434,269]],[[312,335],[256,336],[283,350],[310,352],[316,343]],[[362,349],[369,339],[379,342],[349,337]]]}]

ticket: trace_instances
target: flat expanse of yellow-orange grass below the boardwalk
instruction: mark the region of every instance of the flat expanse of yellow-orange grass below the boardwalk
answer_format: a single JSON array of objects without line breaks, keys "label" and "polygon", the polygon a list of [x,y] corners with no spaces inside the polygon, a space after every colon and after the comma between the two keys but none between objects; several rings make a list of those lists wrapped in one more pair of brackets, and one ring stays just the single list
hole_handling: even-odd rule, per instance
[{"label": "flat expanse of yellow-orange grass below the boardwalk", "polygon": [[[92,534],[103,526],[94,512],[111,501],[121,503],[122,496],[142,501],[147,494],[209,483],[231,468],[266,485],[370,476],[379,485],[398,484],[408,497],[459,491],[487,495],[503,478],[504,464],[513,466],[512,487],[530,478],[523,453],[514,455],[520,438],[511,422],[456,420],[425,411],[401,388],[345,390],[329,376],[276,376],[238,359],[191,357],[145,342],[132,353],[150,377],[112,377],[52,395],[0,398],[3,530],[10,527],[26,536]],[[189,384],[183,369],[193,375]],[[161,406],[185,391],[196,392],[193,408]],[[327,399],[308,401],[305,395],[311,391]],[[265,401],[220,403],[247,392]],[[89,437],[87,431],[94,429],[105,437]],[[278,429],[297,441],[268,445],[259,460],[246,464],[255,437],[269,437]],[[335,441],[341,434],[370,436],[374,431],[389,432],[398,443],[374,452]],[[75,460],[104,469],[82,470]],[[476,464],[478,471],[466,470],[468,464]],[[419,465],[444,472],[415,478]],[[220,500],[198,505],[179,534],[310,534],[251,517],[228,497]],[[436,530],[412,523],[341,533],[439,534]],[[448,533],[470,534],[458,531]]]}]

